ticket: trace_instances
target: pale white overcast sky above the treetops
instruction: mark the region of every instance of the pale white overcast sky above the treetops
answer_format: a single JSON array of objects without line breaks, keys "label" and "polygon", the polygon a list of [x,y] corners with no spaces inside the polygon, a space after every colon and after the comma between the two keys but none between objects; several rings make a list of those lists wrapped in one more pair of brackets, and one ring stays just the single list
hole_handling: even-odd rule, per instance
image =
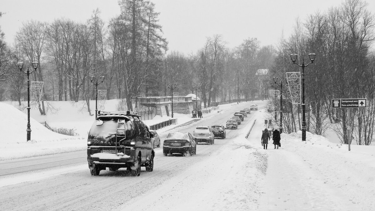
[{"label": "pale white overcast sky above the treetops", "polygon": [[[160,24],[169,51],[195,53],[206,37],[221,34],[228,47],[248,37],[261,45],[276,45],[282,33],[291,34],[296,18],[305,19],[318,10],[339,6],[342,0],[151,0],[160,12]],[[77,22],[90,18],[99,8],[104,21],[120,13],[117,0],[0,0],[1,30],[13,43],[17,31],[29,19],[51,22],[65,17]],[[375,13],[375,0],[367,1]]]}]

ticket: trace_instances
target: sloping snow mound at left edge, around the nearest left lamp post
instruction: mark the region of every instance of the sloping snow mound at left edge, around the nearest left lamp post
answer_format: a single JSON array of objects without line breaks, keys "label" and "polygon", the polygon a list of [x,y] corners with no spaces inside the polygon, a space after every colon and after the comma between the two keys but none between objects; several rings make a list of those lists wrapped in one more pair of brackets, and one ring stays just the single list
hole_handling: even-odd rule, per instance
[{"label": "sloping snow mound at left edge, around the nearest left lamp post", "polygon": [[33,118],[31,141],[27,142],[27,115],[6,103],[0,103],[0,111],[0,160],[75,151],[87,145],[86,140],[52,132]]}]

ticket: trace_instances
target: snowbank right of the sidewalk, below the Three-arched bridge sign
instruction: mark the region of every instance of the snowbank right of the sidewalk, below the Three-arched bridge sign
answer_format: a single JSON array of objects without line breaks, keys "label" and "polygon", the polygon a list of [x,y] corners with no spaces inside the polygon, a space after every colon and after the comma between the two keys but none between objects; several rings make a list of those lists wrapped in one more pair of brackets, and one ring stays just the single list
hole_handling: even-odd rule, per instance
[{"label": "snowbank right of the sidewalk, below the Three-arched bridge sign", "polygon": [[282,148],[294,152],[338,187],[360,210],[375,207],[375,146],[333,144],[323,136],[306,132],[281,134]]}]

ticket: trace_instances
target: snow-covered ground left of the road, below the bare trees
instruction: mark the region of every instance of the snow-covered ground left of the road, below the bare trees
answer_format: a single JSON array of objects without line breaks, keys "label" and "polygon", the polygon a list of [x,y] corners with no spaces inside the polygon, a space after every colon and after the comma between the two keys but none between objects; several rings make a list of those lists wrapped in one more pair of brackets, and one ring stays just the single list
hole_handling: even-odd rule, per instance
[{"label": "snow-covered ground left of the road, below the bare trees", "polygon": [[[81,101],[78,103],[66,101],[50,103],[55,111],[49,111],[46,116],[40,115],[38,110],[31,109],[31,141],[29,142],[26,141],[27,110],[25,109],[24,112],[18,110],[13,106],[14,102],[0,103],[0,119],[3,120],[0,121],[1,136],[3,137],[0,145],[0,160],[57,154],[87,148],[87,134],[95,116],[90,116],[86,110],[82,109],[84,104]],[[116,103],[117,100],[107,100],[105,106],[108,111],[115,111]],[[90,102],[90,105],[95,106],[95,101]],[[206,114],[205,117],[208,118],[212,115],[217,115],[217,112]],[[163,127],[158,132],[169,130],[192,120],[190,114],[175,113],[174,118],[177,118],[177,124]],[[169,117],[155,116],[152,120],[145,120],[144,123],[151,126],[169,119]],[[78,136],[66,136],[52,132],[39,123],[43,121],[46,121],[51,127],[74,129]]]}]

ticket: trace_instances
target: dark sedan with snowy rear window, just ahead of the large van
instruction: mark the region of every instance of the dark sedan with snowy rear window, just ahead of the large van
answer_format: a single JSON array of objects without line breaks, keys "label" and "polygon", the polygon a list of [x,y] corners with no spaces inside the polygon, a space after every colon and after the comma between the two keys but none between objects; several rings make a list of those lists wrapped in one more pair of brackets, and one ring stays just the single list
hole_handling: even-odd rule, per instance
[{"label": "dark sedan with snowy rear window, just ahead of the large van", "polygon": [[196,154],[196,142],[190,133],[169,133],[163,142],[163,154],[167,156],[172,153]]}]

